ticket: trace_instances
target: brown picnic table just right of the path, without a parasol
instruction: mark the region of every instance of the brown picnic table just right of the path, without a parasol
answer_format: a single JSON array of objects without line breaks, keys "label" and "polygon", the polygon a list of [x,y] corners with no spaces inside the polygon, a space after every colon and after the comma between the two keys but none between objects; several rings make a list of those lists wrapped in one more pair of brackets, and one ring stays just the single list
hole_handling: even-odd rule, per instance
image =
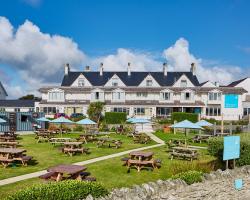
[{"label": "brown picnic table just right of the path, without a parasol", "polygon": [[125,165],[127,165],[128,170],[130,170],[131,167],[135,167],[138,172],[145,167],[151,167],[152,169],[158,168],[160,161],[153,159],[153,155],[153,152],[131,152],[129,154],[130,158],[125,161]]}]

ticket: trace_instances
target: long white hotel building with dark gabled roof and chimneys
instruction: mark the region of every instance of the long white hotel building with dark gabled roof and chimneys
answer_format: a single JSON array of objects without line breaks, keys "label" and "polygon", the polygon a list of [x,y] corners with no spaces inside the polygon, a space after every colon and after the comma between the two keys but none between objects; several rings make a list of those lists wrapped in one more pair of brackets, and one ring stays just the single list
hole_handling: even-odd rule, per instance
[{"label": "long white hotel building with dark gabled roof and chimneys", "polygon": [[172,112],[200,113],[203,118],[238,120],[243,116],[242,87],[199,83],[195,64],[188,72],[169,72],[163,64],[160,72],[70,71],[65,65],[61,86],[42,87],[39,111],[83,113],[91,102],[105,102],[105,112],[126,112],[129,117],[166,117]]}]

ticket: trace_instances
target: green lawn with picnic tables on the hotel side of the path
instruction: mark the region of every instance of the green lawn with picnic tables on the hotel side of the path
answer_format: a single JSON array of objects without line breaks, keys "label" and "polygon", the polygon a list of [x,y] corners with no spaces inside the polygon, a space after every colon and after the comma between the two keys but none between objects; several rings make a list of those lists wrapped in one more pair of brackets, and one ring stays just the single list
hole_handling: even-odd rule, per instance
[{"label": "green lawn with picnic tables on the hotel side of the path", "polygon": [[[78,134],[68,134],[64,135],[64,137],[78,137]],[[111,134],[111,138],[120,139],[123,144],[119,149],[115,148],[97,148],[96,144],[89,143],[84,146],[90,148],[90,154],[78,154],[75,156],[68,156],[67,154],[63,154],[60,151],[60,146],[53,146],[50,143],[37,143],[35,139],[35,135],[25,135],[18,140],[18,142],[22,145],[20,148],[24,148],[27,150],[27,155],[33,156],[35,162],[32,162],[27,167],[21,165],[12,165],[7,168],[0,168],[0,180],[19,176],[27,173],[32,173],[40,170],[47,169],[48,167],[57,165],[57,164],[67,164],[67,163],[75,163],[84,160],[89,160],[92,158],[105,156],[129,149],[135,149],[139,147],[143,147],[145,145],[142,144],[134,144],[131,138],[128,138],[123,135]],[[147,145],[155,144],[151,142]]]}]

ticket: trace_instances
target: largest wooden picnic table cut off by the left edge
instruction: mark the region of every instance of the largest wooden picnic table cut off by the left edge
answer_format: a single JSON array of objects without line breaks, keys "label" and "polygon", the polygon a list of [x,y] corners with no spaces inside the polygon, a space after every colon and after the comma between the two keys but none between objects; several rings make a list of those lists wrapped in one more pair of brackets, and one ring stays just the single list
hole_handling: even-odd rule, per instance
[{"label": "largest wooden picnic table cut off by the left edge", "polygon": [[0,162],[6,168],[14,161],[21,161],[22,165],[27,165],[28,161],[32,159],[31,156],[24,154],[25,149],[17,148],[0,148]]}]

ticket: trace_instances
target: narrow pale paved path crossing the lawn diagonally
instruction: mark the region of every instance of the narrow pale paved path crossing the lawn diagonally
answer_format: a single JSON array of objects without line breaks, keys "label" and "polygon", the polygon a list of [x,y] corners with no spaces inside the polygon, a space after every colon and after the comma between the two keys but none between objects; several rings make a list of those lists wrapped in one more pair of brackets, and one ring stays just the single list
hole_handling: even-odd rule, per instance
[{"label": "narrow pale paved path crossing the lawn diagonally", "polygon": [[[152,148],[156,148],[156,147],[160,147],[160,146],[164,145],[164,141],[160,140],[158,137],[156,137],[152,133],[149,136],[151,137],[152,140],[154,140],[155,142],[157,142],[159,144],[152,145],[152,146],[147,146],[147,147],[141,147],[141,148],[137,148],[137,149],[131,149],[131,150],[127,150],[127,151],[123,151],[123,152],[119,152],[119,153],[115,153],[115,154],[111,154],[111,155],[107,155],[107,156],[102,156],[102,157],[98,157],[98,158],[93,158],[93,159],[90,159],[90,160],[85,160],[85,161],[82,161],[82,162],[74,163],[74,165],[88,165],[88,164],[95,163],[95,162],[98,162],[98,161],[107,160],[107,159],[110,159],[110,158],[115,158],[115,157],[120,157],[120,156],[123,156],[123,155],[127,155],[132,151],[143,151],[143,150],[146,150],[146,149],[152,149]],[[21,176],[16,176],[16,177],[12,177],[12,178],[3,179],[3,180],[0,180],[0,186],[15,183],[15,182],[18,182],[18,181],[27,180],[27,179],[30,179],[30,178],[36,178],[36,177],[41,176],[41,175],[43,175],[45,173],[47,173],[47,171],[42,170],[42,171],[30,173],[30,174],[24,174],[24,175],[21,175]]]}]

